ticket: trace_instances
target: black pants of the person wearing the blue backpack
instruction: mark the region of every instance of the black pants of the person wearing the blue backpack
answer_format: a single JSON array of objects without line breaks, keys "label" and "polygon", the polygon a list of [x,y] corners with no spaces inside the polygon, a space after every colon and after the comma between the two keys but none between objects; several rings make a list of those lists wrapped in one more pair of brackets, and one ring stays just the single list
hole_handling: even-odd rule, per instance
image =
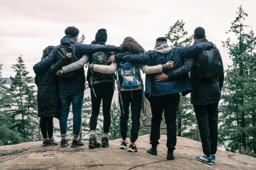
[{"label": "black pants of the person wearing the blue backpack", "polygon": [[[126,139],[128,133],[129,108],[131,104],[131,142],[138,139],[140,130],[140,118],[142,109],[142,90],[121,91],[122,101],[124,104],[124,113],[121,107],[120,96],[118,93],[119,106],[121,109],[120,131],[123,139]],[[131,98],[132,97],[132,98]]]}]

